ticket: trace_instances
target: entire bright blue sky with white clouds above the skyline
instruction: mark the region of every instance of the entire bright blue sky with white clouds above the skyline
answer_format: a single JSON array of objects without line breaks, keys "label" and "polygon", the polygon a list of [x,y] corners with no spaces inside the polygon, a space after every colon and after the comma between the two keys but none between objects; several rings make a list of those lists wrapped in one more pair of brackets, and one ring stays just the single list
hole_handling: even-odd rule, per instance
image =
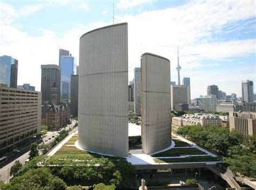
[{"label": "entire bright blue sky with white clouds above the skyline", "polygon": [[[114,5],[113,5],[114,2]],[[129,81],[145,52],[171,61],[171,81],[190,77],[191,97],[218,85],[241,96],[241,81],[252,80],[256,93],[256,7],[244,1],[0,1],[0,55],[18,62],[18,85],[41,90],[41,65],[58,65],[60,48],[79,65],[82,34],[128,23]],[[113,19],[114,7],[114,19]]]}]

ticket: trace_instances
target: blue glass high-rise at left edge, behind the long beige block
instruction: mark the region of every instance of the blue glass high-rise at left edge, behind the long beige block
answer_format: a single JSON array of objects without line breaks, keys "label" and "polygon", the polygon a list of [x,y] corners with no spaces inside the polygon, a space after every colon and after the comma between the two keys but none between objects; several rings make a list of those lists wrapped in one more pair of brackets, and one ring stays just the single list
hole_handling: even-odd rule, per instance
[{"label": "blue glass high-rise at left edge, behind the long beige block", "polygon": [[8,55],[0,57],[0,83],[17,88],[18,60]]}]

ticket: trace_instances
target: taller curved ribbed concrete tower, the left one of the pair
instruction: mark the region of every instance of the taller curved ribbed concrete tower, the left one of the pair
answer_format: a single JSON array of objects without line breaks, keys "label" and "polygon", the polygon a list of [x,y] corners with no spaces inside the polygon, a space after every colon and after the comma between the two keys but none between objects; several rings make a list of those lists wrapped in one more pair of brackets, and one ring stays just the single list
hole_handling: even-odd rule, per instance
[{"label": "taller curved ribbed concrete tower, the left one of the pair", "polygon": [[127,23],[85,33],[79,47],[78,144],[128,156]]}]

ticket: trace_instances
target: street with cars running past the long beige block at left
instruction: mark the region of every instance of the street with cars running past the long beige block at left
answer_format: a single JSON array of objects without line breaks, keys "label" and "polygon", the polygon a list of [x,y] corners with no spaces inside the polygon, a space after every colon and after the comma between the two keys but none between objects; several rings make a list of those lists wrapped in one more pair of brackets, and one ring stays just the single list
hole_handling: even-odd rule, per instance
[{"label": "street with cars running past the long beige block at left", "polygon": [[[65,127],[65,130],[72,129],[73,126],[75,126],[75,124],[76,124],[76,121],[73,120],[70,125],[67,125],[67,126]],[[59,130],[59,131],[60,131],[60,130]],[[46,137],[43,138],[43,142],[44,142],[45,144],[52,143],[53,140],[55,140],[55,138],[52,138],[53,134],[54,134],[54,136],[56,137],[56,135],[57,135],[57,133],[58,133],[59,131],[50,132],[48,136],[46,136]],[[51,139],[49,140],[49,138],[51,138]],[[47,142],[45,142],[46,139],[47,139]],[[8,165],[2,167],[2,168],[0,169],[0,175],[1,175],[0,180],[3,181],[4,183],[6,183],[7,180],[8,180],[8,174],[9,174],[9,173],[8,173],[8,170],[9,170],[9,172],[10,172],[10,168],[11,168],[11,166],[15,163],[16,160],[19,160],[19,162],[20,162],[22,165],[24,165],[24,164],[25,164],[25,160],[29,158],[29,152],[30,152],[30,151],[25,152],[22,156],[18,157],[17,159],[15,159],[14,161],[12,161],[12,162],[9,163]],[[40,152],[39,152],[39,153],[40,153]],[[9,176],[9,179],[10,179],[10,176]]]}]

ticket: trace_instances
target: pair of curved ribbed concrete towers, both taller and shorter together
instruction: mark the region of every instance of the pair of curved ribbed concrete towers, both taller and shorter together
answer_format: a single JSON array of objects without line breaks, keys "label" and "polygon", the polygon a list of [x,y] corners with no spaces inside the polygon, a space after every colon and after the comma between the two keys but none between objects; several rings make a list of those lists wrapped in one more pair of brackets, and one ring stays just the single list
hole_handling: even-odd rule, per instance
[{"label": "pair of curved ribbed concrete towers, both taller and shorter together", "polygon": [[[144,53],[142,71],[142,151],[171,145],[170,61]],[[127,157],[127,23],[83,34],[79,47],[78,145],[85,150]]]}]

